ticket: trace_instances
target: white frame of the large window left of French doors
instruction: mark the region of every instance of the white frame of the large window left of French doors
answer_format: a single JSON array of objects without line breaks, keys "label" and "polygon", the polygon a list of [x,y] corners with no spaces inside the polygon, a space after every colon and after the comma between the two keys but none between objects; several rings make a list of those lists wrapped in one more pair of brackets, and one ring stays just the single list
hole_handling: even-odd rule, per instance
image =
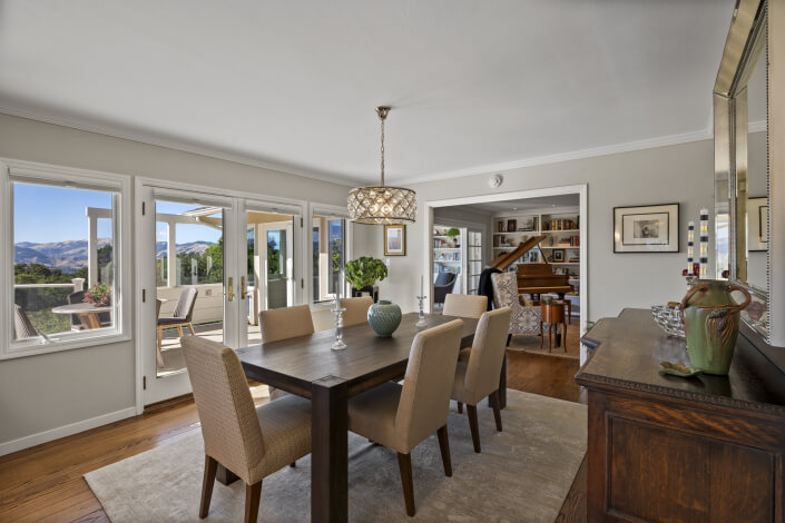
[{"label": "white frame of the large window left of French doors", "polygon": [[[110,328],[80,330],[58,334],[47,339],[12,339],[13,333],[13,248],[7,248],[13,240],[13,201],[12,182],[29,182],[63,188],[89,188],[114,193],[112,196],[112,235],[114,235],[114,303],[116,304],[115,323]],[[3,314],[0,314],[0,359],[49,354],[60,351],[106,345],[131,339],[131,268],[130,268],[130,193],[129,176],[77,169],[71,167],[38,164],[16,159],[0,158],[0,296]]]}]

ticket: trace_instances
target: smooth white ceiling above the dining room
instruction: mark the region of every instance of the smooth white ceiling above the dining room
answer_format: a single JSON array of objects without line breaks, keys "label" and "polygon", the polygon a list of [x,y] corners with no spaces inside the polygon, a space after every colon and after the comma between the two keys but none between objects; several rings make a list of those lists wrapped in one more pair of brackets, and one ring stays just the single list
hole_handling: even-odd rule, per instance
[{"label": "smooth white ceiling above the dining room", "polygon": [[[707,137],[734,0],[0,0],[0,111],[346,182]],[[543,158],[546,157],[546,158]]]}]

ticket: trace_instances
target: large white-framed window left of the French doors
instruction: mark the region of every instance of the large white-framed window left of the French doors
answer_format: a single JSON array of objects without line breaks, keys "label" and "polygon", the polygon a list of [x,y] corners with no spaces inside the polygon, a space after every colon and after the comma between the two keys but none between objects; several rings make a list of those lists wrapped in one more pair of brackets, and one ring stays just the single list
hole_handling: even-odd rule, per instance
[{"label": "large white-framed window left of the French doors", "polygon": [[[121,336],[120,204],[128,180],[51,166],[2,166],[6,309],[0,357]],[[127,197],[127,190],[126,190]]]}]

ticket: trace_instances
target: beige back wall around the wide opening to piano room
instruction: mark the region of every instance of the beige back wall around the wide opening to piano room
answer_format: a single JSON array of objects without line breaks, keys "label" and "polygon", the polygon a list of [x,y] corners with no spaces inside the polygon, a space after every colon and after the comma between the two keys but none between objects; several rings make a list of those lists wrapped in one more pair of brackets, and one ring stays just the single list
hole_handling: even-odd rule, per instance
[{"label": "beige back wall around the wide opening to piano room", "polygon": [[[391,260],[390,278],[380,288],[383,298],[406,312],[415,310],[418,276],[423,272],[426,201],[579,184],[588,184],[589,319],[684,295],[687,221],[697,221],[701,207],[714,214],[712,140],[502,171],[504,182],[497,189],[488,186],[490,175],[411,186],[418,191],[418,221],[408,228],[409,255]],[[671,203],[680,204],[679,253],[614,254],[614,207]],[[375,234],[377,238],[369,235],[366,241],[380,245],[375,256],[381,256],[381,231]],[[712,248],[709,259],[713,253]]]}]

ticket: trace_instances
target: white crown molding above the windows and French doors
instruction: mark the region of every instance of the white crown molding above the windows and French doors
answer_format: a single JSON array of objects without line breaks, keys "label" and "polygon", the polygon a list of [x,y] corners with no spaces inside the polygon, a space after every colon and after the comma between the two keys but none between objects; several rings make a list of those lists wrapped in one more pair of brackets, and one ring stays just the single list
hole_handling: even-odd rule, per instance
[{"label": "white crown molding above the windows and French doors", "polygon": [[45,124],[52,124],[61,127],[69,127],[72,129],[84,130],[88,132],[96,132],[99,135],[110,136],[112,138],[121,138],[131,141],[138,141],[140,144],[147,144],[156,147],[164,147],[167,149],[174,149],[181,152],[190,152],[194,155],[206,156],[209,158],[215,158],[218,160],[232,161],[235,164],[242,164],[251,167],[259,167],[262,169],[273,170],[276,172],[282,172],[286,175],[301,176],[304,178],[311,178],[320,181],[326,181],[331,184],[337,184],[347,187],[354,187],[360,181],[355,178],[344,177],[338,175],[332,175],[327,172],[321,172],[311,169],[303,169],[300,167],[278,164],[274,161],[261,160],[252,156],[242,155],[237,152],[228,152],[219,149],[214,149],[212,147],[199,146],[185,140],[167,139],[155,137],[145,132],[137,132],[127,129],[117,129],[111,126],[104,126],[95,122],[84,122],[76,119],[58,117],[52,115],[39,114],[28,109],[18,109],[8,106],[0,105],[0,114],[14,116],[18,118],[26,118],[28,120],[42,121]]}]

